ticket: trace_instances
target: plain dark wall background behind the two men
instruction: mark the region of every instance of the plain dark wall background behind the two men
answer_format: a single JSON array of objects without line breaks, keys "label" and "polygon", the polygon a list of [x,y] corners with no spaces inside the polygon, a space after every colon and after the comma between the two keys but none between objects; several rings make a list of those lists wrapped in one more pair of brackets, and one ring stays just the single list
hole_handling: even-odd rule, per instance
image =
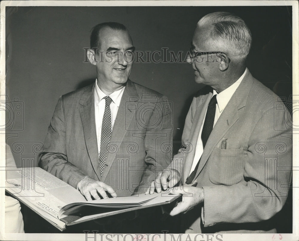
[{"label": "plain dark wall background behind the two men", "polygon": [[[185,56],[196,23],[215,11],[244,19],[253,38],[248,69],[288,100],[292,94],[292,7],[6,7],[6,95],[24,104],[24,112],[16,116],[24,118],[24,128],[7,130],[7,144],[43,142],[59,96],[95,80],[94,66],[83,63],[83,48],[89,47],[90,30],[97,23],[123,23],[138,51],[169,48],[184,51]],[[180,142],[192,96],[203,87],[194,82],[192,66],[134,63],[130,79],[173,102],[173,137]],[[174,153],[178,148],[175,144]],[[13,154],[19,165],[22,157],[14,150]],[[282,213],[291,212],[290,208]],[[288,217],[283,217],[278,231],[292,232]]]}]

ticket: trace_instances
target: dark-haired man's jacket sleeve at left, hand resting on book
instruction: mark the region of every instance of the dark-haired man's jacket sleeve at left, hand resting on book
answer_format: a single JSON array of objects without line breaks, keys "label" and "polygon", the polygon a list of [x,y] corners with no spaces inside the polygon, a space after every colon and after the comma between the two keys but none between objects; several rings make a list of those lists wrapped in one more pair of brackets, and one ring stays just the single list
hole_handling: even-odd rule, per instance
[{"label": "dark-haired man's jacket sleeve at left, hand resting on book", "polygon": [[78,182],[87,175],[68,162],[65,139],[65,118],[60,96],[48,127],[45,149],[39,155],[39,166],[77,188]]}]

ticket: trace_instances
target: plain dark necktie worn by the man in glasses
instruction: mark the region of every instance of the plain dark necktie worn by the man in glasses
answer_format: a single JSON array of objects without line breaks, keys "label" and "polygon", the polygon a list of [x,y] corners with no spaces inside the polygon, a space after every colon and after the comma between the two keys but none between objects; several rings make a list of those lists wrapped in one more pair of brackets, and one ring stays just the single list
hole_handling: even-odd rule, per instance
[{"label": "plain dark necktie worn by the man in glasses", "polygon": [[[216,112],[216,104],[217,104],[217,99],[216,99],[216,95],[214,95],[209,102],[206,117],[205,117],[205,122],[202,127],[202,136],[201,137],[202,137],[202,145],[203,145],[204,149],[205,149],[205,145],[209,139],[209,136],[213,130],[215,112]],[[195,169],[193,170],[193,172],[191,172],[191,174],[187,178],[186,184],[192,183],[193,179],[195,178],[195,175],[196,175],[196,172],[197,172],[197,169],[199,166],[199,162],[200,162],[200,158],[195,166]]]}]

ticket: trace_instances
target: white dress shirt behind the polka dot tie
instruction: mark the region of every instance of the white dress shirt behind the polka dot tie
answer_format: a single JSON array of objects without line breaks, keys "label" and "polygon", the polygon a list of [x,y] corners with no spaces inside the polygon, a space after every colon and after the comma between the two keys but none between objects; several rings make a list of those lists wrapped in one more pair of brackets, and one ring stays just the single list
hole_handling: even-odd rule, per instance
[{"label": "white dress shirt behind the polka dot tie", "polygon": [[[95,114],[95,128],[97,132],[97,149],[98,154],[100,154],[100,146],[101,146],[101,130],[102,130],[102,121],[105,112],[105,96],[107,96],[102,90],[100,90],[99,86],[97,85],[97,80],[95,81],[94,87],[94,114]],[[121,88],[118,91],[111,93],[109,96],[112,99],[110,104],[111,110],[111,128],[113,128],[115,118],[118,112],[118,107],[120,104],[121,97],[123,96],[123,91],[125,87]]]}]

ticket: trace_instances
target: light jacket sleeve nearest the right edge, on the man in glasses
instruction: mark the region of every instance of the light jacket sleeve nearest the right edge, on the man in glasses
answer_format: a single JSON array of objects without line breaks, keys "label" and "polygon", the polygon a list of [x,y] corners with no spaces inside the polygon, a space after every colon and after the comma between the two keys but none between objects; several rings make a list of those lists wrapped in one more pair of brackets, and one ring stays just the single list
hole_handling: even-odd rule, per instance
[{"label": "light jacket sleeve nearest the right edge, on the man in glasses", "polygon": [[[274,107],[263,113],[245,150],[244,182],[204,189],[204,226],[260,222],[270,219],[286,202],[292,168],[292,135]],[[219,205],[221,204],[221,205]]]}]

